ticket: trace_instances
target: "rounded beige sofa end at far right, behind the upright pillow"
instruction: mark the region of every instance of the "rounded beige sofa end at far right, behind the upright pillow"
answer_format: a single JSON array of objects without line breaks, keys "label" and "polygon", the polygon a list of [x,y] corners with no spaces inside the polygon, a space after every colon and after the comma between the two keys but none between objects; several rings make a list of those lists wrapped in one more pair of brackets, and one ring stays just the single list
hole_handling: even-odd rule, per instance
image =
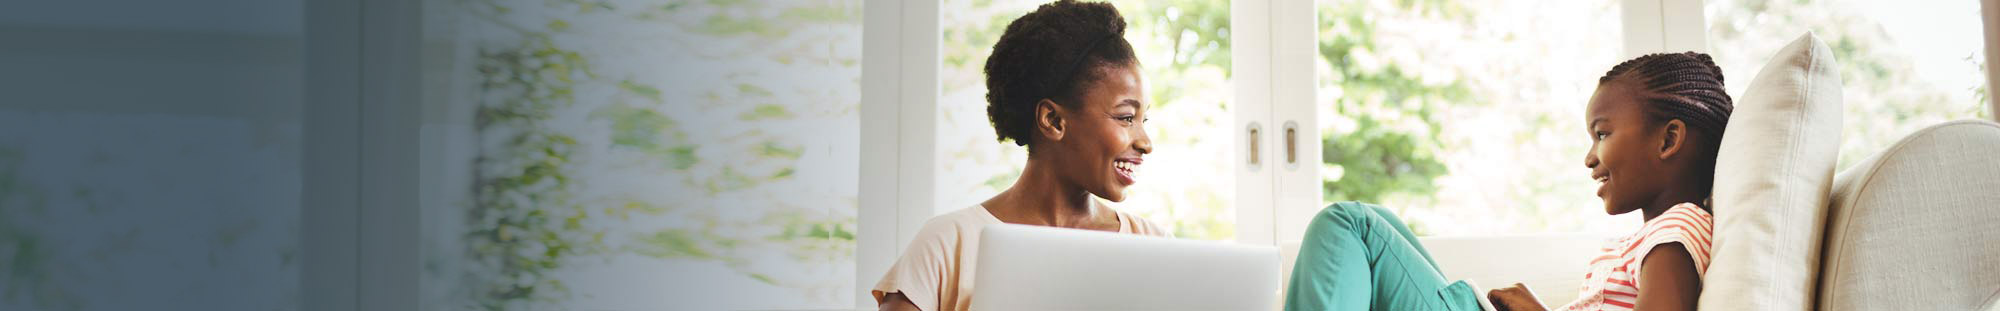
[{"label": "rounded beige sofa end at far right, behind the upright pillow", "polygon": [[2000,124],[1930,126],[1834,179],[1822,309],[1978,309],[2000,293]]}]

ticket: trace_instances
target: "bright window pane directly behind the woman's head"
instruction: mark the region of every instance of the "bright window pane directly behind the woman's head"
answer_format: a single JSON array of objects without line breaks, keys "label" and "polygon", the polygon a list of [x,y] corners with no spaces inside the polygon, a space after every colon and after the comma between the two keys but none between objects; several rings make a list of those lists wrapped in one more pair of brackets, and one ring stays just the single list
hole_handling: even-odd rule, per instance
[{"label": "bright window pane directly behind the woman's head", "polygon": [[[936,199],[944,209],[970,207],[1018,177],[1028,150],[996,142],[986,120],[980,68],[1008,22],[1042,0],[946,0]],[[1122,211],[1158,221],[1176,237],[1232,239],[1234,181],[1230,138],[1230,6],[1202,0],[1114,0],[1126,16],[1126,40],[1140,58],[1150,106],[1144,177]]]}]

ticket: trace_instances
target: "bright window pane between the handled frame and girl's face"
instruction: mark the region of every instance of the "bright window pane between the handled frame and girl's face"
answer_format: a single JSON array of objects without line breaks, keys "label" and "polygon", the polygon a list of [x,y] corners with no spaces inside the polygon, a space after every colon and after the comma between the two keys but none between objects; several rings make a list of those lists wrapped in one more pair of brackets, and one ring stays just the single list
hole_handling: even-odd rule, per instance
[{"label": "bright window pane between the handled frame and girl's face", "polygon": [[1620,4],[1320,0],[1324,201],[1418,235],[1600,231],[1582,110],[1620,60]]}]

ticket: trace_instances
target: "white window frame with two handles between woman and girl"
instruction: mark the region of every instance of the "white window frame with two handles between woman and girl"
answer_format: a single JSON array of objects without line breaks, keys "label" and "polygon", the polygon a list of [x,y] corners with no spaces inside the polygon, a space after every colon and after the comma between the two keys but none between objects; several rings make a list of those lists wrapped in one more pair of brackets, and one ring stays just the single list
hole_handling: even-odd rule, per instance
[{"label": "white window frame with two handles between woman and girl", "polygon": [[[1236,241],[1282,245],[1320,203],[1312,2],[1234,2]],[[1252,136],[1252,130],[1256,132]],[[1290,130],[1290,134],[1286,134]]]}]

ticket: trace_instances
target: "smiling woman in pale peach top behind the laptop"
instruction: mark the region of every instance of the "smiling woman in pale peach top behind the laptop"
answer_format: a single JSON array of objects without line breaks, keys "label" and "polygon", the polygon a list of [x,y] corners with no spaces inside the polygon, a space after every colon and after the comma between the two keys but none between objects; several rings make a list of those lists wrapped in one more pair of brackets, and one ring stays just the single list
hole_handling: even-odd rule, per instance
[{"label": "smiling woman in pale peach top behind the laptop", "polygon": [[932,217],[872,295],[890,311],[964,311],[980,229],[1022,223],[1166,235],[1152,221],[1094,197],[1124,201],[1146,140],[1146,86],[1110,4],[1060,0],[1008,24],[986,58],[986,116],[1000,142],[1028,148],[1012,187],[980,205]]}]

